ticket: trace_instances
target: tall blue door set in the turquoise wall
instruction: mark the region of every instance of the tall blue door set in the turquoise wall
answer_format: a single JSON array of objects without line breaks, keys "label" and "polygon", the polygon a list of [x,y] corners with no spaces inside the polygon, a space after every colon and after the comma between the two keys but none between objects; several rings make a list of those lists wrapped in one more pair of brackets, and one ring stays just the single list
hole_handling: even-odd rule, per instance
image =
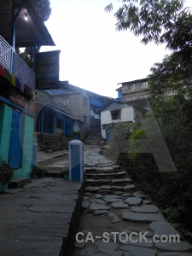
[{"label": "tall blue door set in the turquoise wall", "polygon": [[21,118],[21,113],[13,109],[9,144],[9,165],[15,169],[21,166]]}]

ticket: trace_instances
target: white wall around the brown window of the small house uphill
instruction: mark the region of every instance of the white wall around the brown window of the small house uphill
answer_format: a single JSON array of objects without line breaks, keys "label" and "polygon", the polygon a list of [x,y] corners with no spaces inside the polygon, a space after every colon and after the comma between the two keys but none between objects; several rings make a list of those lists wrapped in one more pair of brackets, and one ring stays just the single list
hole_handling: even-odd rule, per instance
[{"label": "white wall around the brown window of the small house uphill", "polygon": [[102,137],[106,138],[105,125],[118,122],[134,122],[134,108],[129,106],[127,108],[120,109],[120,119],[112,119],[111,112],[109,110],[102,111],[101,113],[101,130]]}]

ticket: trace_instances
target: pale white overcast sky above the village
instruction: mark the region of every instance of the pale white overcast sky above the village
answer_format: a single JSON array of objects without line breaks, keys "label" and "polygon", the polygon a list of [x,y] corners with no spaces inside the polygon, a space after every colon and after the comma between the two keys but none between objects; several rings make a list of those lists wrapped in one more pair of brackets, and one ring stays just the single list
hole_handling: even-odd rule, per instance
[{"label": "pale white overcast sky above the village", "polygon": [[[144,45],[131,32],[117,32],[113,13],[104,8],[113,0],[50,0],[45,22],[60,49],[60,80],[116,98],[122,82],[144,79],[150,67],[169,51],[165,45]],[[113,9],[119,5],[113,1]]]}]

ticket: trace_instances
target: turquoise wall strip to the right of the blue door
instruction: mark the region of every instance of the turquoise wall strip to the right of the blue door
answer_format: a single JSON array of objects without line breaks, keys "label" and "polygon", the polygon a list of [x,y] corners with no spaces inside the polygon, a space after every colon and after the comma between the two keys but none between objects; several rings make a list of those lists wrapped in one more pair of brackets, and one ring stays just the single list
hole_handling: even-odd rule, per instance
[{"label": "turquoise wall strip to the right of the blue door", "polygon": [[14,178],[30,177],[32,172],[32,142],[33,142],[34,119],[23,117],[23,139],[22,139],[22,168],[15,171]]}]

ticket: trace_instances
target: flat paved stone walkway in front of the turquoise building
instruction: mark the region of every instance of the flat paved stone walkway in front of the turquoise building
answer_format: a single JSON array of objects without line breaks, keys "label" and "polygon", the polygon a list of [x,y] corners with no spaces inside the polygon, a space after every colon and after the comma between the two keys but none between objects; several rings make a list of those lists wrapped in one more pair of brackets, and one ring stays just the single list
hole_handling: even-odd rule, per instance
[{"label": "flat paved stone walkway in front of the turquoise building", "polygon": [[81,195],[82,183],[53,177],[0,194],[0,255],[70,255]]}]

